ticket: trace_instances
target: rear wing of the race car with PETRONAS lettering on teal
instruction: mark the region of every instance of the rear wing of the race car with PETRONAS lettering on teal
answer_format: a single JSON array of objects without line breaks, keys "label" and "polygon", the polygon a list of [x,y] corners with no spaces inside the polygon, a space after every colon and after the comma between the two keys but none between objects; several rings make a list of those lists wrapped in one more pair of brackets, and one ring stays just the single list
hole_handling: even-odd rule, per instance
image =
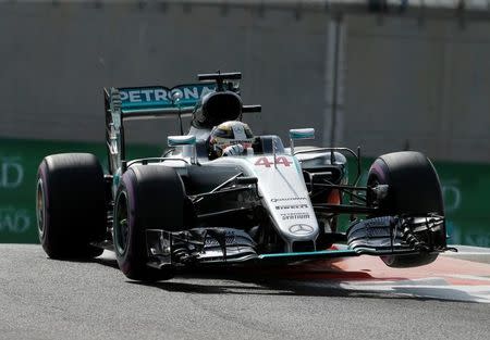
[{"label": "rear wing of the race car with PETRONAS lettering on teal", "polygon": [[[105,88],[106,143],[109,159],[109,173],[122,173],[126,167],[124,122],[131,119],[177,117],[183,135],[182,117],[189,116],[203,106],[203,101],[209,104],[216,92],[233,92],[240,96],[237,84],[229,80],[242,78],[240,72],[211,73],[198,75],[197,84],[184,84],[172,88],[164,86]],[[209,93],[216,93],[210,95]],[[206,99],[206,98],[207,99]],[[244,112],[260,112],[260,105],[243,105],[240,97],[240,114]],[[216,101],[215,101],[216,102]],[[216,105],[215,108],[216,109]],[[204,109],[203,109],[204,110]],[[242,116],[240,115],[240,118]]]}]

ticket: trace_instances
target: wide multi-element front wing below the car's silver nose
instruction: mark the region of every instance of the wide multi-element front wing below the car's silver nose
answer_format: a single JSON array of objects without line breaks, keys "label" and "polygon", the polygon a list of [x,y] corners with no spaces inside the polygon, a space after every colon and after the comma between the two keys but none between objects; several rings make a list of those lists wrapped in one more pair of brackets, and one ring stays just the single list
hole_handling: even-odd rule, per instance
[{"label": "wide multi-element front wing below the car's silver nose", "polygon": [[246,231],[233,228],[199,228],[179,232],[149,229],[146,231],[148,266],[289,264],[363,254],[438,253],[446,249],[430,244],[430,235],[443,223],[444,218],[434,214],[368,218],[351,225],[344,249],[284,253],[259,253],[258,244]]}]

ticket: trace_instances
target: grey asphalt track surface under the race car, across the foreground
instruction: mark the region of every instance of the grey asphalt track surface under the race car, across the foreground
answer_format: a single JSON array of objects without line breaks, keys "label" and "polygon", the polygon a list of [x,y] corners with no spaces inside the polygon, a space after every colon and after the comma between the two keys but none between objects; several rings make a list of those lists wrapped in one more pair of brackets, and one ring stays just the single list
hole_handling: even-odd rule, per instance
[{"label": "grey asphalt track surface under the race car, across the foreground", "polygon": [[62,262],[0,244],[0,339],[489,339],[489,264],[394,275],[363,257],[144,285],[110,252]]}]

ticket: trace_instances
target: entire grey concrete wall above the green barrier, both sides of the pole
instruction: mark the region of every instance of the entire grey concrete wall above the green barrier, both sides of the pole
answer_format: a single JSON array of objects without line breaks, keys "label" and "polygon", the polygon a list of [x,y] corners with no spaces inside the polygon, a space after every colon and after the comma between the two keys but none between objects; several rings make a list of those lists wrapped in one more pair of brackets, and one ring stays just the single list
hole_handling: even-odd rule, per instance
[{"label": "entire grey concrete wall above the green barrier, both sides of the pole", "polygon": [[[103,86],[242,71],[257,134],[314,126],[329,141],[328,11],[105,1],[0,1],[0,137],[101,141]],[[334,143],[490,162],[490,23],[344,15]],[[330,39],[330,40],[329,40]],[[329,43],[330,41],[330,43]],[[176,122],[131,123],[163,143]]]}]

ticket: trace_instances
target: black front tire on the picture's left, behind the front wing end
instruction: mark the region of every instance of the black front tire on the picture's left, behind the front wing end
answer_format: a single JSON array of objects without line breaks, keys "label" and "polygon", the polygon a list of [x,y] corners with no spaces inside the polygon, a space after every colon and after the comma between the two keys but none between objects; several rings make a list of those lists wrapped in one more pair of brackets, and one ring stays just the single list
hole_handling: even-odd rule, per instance
[{"label": "black front tire on the picture's left, behind the front wing end", "polygon": [[187,197],[175,171],[160,165],[136,165],[122,176],[115,196],[113,240],[119,267],[134,280],[170,279],[173,267],[147,266],[146,230],[182,230]]}]

